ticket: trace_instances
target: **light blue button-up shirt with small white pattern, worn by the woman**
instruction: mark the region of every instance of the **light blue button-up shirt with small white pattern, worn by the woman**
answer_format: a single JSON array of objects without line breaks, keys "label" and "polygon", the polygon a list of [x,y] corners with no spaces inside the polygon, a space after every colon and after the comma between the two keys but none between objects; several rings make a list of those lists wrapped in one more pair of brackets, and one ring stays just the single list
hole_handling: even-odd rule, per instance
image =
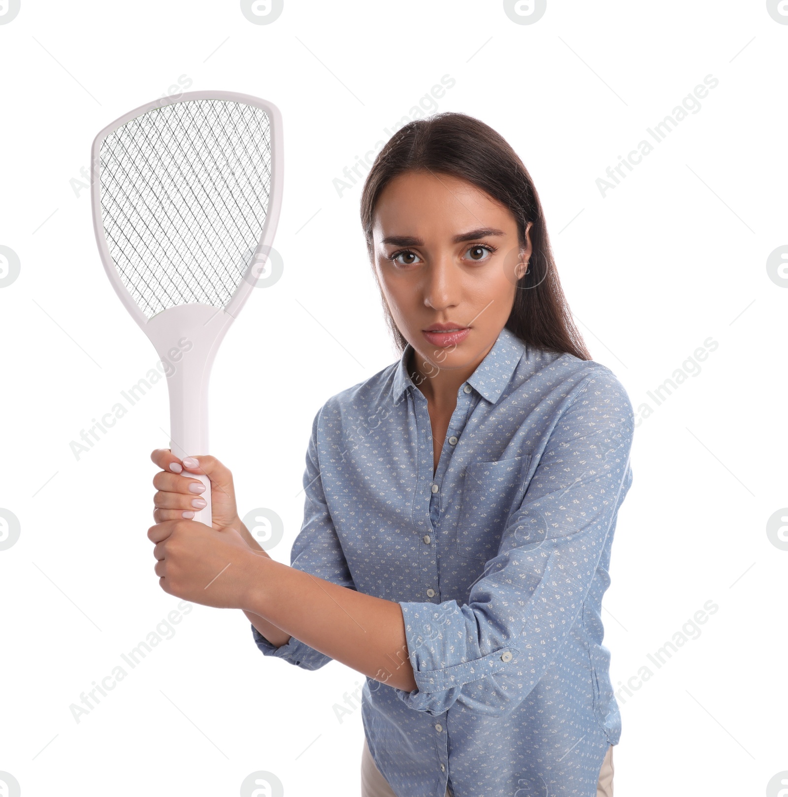
[{"label": "light blue button-up shirt with small white pattern, worn by the woman", "polygon": [[[411,352],[314,418],[291,563],[402,607],[418,688],[368,678],[362,708],[397,795],[443,797],[449,779],[455,797],[594,797],[621,732],[601,601],[632,483],[628,395],[607,367],[504,328],[433,475]],[[330,660],[252,631],[266,655]]]}]

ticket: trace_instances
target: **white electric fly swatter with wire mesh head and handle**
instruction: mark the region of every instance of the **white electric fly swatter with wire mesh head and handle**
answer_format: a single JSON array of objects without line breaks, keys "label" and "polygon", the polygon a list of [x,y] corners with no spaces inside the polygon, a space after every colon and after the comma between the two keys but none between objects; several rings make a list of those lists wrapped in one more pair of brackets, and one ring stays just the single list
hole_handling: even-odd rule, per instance
[{"label": "white electric fly swatter with wire mesh head and handle", "polygon": [[[216,351],[266,265],[282,202],[282,116],[257,97],[187,92],[93,142],[93,226],[120,300],[175,371],[170,447],[208,453]],[[191,347],[189,346],[191,344]],[[207,507],[195,520],[211,525]]]}]

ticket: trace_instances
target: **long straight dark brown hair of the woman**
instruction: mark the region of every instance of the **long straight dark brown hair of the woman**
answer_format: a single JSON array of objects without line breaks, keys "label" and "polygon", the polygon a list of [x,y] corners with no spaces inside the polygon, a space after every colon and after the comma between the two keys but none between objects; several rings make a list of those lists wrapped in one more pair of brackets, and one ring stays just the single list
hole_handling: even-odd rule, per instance
[{"label": "long straight dark brown hair of the woman", "polygon": [[[406,171],[451,175],[485,191],[514,214],[521,248],[526,246],[528,222],[533,222],[533,253],[528,270],[518,281],[506,328],[534,347],[591,359],[561,289],[534,182],[506,139],[473,116],[454,112],[412,121],[396,132],[372,163],[361,194],[361,226],[372,263],[377,198],[390,180]],[[396,327],[385,299],[383,305],[401,354],[408,341]]]}]

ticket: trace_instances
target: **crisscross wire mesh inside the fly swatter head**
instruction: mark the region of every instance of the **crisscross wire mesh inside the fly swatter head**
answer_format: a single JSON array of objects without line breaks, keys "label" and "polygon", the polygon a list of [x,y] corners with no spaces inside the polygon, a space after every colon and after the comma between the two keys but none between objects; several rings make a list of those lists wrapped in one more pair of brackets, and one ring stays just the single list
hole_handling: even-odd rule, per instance
[{"label": "crisscross wire mesh inside the fly swatter head", "polygon": [[262,236],[270,183],[270,119],[252,105],[164,105],[107,135],[104,235],[145,316],[227,304]]}]

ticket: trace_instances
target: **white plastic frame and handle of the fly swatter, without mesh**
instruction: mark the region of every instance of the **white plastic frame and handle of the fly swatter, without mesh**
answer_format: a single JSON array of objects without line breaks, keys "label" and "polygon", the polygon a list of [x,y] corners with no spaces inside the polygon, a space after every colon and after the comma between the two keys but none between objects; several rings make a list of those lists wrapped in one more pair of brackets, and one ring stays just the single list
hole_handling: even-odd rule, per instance
[{"label": "white plastic frame and handle of the fly swatter, without mesh", "polygon": [[[266,221],[263,223],[262,235],[257,249],[254,250],[250,265],[224,308],[216,308],[209,304],[180,304],[158,312],[148,319],[120,278],[120,272],[116,268],[115,262],[112,261],[112,255],[104,235],[99,173],[101,144],[108,135],[138,116],[144,116],[156,108],[194,100],[238,102],[260,108],[268,115],[271,139],[271,181]],[[209,453],[208,381],[211,375],[211,366],[227,329],[230,328],[234,317],[246,303],[252,288],[259,279],[259,272],[254,274],[252,273],[253,269],[256,265],[259,266],[266,262],[274,241],[282,205],[283,139],[282,115],[279,109],[268,100],[237,92],[203,91],[185,92],[177,98],[165,97],[152,103],[140,105],[139,108],[120,116],[120,119],[116,119],[112,124],[108,124],[93,140],[90,159],[91,200],[93,203],[93,229],[96,233],[101,262],[120,301],[156,347],[160,358],[169,360],[175,368],[175,371],[167,376],[167,388],[170,396],[170,447],[175,456],[179,458]],[[183,340],[183,338],[191,341],[192,347],[180,355],[177,362],[173,362],[175,358],[169,352],[173,349],[179,352],[179,340]],[[207,477],[199,478],[208,488],[202,496],[207,501],[207,507],[195,512],[195,520],[200,520],[210,526],[210,481]]]}]

